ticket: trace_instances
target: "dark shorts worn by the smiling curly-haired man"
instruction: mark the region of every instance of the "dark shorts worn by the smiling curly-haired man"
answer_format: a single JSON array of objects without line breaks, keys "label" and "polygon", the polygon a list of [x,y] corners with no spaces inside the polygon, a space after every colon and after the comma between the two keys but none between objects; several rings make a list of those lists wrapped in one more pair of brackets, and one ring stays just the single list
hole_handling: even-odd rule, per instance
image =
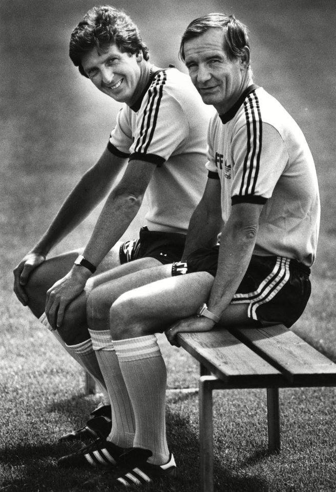
[{"label": "dark shorts worn by the smiling curly-haired man", "polygon": [[174,263],[182,257],[185,234],[149,231],[141,227],[139,239],[126,241],[120,246],[121,265],[140,258],[156,258],[162,265]]}]

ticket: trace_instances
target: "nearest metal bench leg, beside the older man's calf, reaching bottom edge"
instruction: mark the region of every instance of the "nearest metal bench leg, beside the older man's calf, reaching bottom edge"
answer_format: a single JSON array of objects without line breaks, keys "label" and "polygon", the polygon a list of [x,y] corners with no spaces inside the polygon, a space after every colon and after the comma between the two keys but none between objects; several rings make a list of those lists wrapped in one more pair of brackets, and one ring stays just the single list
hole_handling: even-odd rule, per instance
[{"label": "nearest metal bench leg, beside the older man's calf, reaching bottom edge", "polygon": [[199,381],[200,491],[214,490],[213,386],[206,377]]}]

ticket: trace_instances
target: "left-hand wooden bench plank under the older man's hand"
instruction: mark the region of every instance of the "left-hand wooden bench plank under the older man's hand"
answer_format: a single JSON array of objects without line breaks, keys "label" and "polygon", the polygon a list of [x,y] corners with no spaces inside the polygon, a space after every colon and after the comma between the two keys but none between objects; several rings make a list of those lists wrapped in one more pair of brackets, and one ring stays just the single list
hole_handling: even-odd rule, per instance
[{"label": "left-hand wooden bench plank under the older man's hand", "polygon": [[179,344],[228,386],[281,385],[281,373],[223,328],[179,333]]}]

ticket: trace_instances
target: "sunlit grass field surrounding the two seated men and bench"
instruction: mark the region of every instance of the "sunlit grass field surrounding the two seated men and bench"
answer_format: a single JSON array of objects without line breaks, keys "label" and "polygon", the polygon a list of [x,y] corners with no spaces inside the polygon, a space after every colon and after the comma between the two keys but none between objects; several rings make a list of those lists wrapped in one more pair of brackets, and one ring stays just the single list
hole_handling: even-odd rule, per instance
[{"label": "sunlit grass field surrounding the two seated men and bench", "polygon": [[[81,425],[98,396],[83,395],[83,375],[12,293],[12,269],[45,230],[79,176],[98,158],[118,105],[93,90],[68,60],[71,29],[88,0],[2,0],[2,146],[0,164],[0,491],[79,491],[93,473],[59,473],[71,446],[57,437]],[[312,296],[293,327],[336,361],[336,202],[334,196],[334,0],[241,0],[184,3],[117,0],[138,23],[157,65],[175,63],[187,23],[209,11],[236,13],[251,34],[255,82],[274,94],[302,127],[317,166],[322,220]],[[143,217],[131,226],[136,233]],[[85,243],[94,212],[55,253]],[[167,431],[180,474],[157,492],[198,490],[198,368],[160,338],[168,369]],[[282,390],[281,455],[266,452],[261,390],[215,398],[216,490],[336,490],[335,400],[331,388]],[[100,477],[100,476],[99,476]],[[96,490],[108,490],[101,476]],[[196,480],[196,482],[195,482]]]}]

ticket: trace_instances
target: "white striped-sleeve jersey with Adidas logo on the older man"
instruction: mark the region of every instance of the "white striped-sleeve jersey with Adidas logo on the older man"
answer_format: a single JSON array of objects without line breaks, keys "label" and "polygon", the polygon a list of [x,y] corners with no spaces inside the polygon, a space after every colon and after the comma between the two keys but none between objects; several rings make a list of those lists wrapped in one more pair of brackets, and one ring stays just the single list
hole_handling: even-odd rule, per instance
[{"label": "white striped-sleeve jersey with Adidas logo on the older man", "polygon": [[302,131],[274,97],[253,85],[227,113],[212,117],[206,167],[221,180],[224,222],[234,204],[264,204],[254,254],[313,263],[316,169]]}]

